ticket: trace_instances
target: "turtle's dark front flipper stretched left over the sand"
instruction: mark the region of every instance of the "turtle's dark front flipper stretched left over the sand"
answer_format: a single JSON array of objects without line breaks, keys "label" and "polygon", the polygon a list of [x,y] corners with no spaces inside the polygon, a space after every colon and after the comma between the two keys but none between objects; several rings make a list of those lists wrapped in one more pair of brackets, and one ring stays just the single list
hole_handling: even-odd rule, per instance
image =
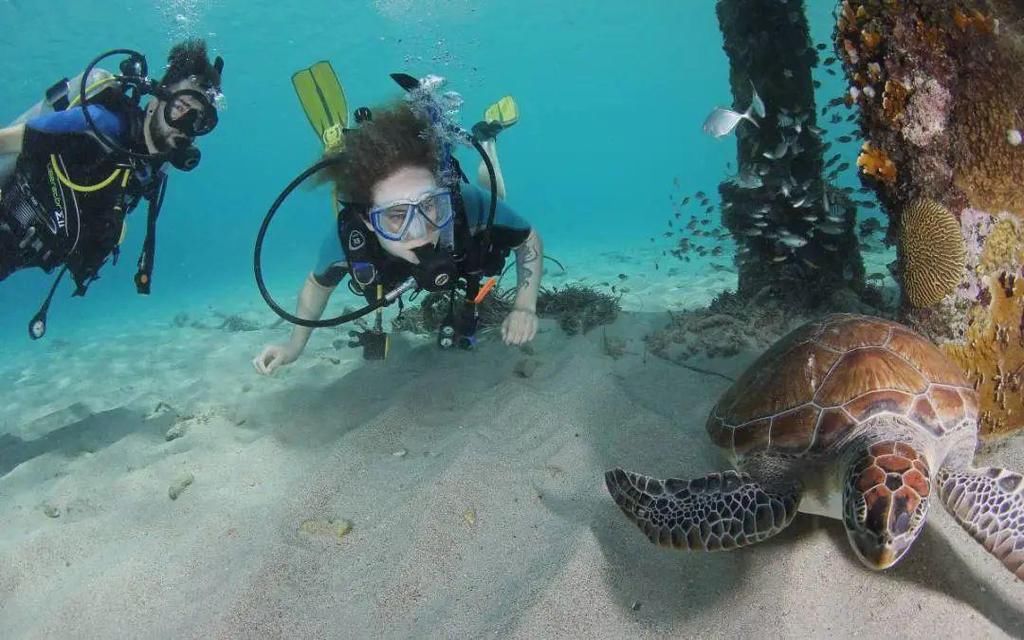
[{"label": "turtle's dark front flipper stretched left over the sand", "polygon": [[773,492],[745,473],[710,473],[692,480],[654,478],[613,469],[604,483],[615,504],[656,545],[719,551],[745,547],[781,531],[797,514],[800,489]]}]

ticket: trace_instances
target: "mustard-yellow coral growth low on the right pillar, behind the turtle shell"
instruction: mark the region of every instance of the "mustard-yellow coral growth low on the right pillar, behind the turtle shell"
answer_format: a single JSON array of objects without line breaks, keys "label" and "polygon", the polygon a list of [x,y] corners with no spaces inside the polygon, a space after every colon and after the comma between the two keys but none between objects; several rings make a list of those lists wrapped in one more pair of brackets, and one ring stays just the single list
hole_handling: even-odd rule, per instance
[{"label": "mustard-yellow coral growth low on the right pillar, behind the turtle shell", "polygon": [[986,304],[971,312],[964,344],[946,344],[978,390],[981,433],[1002,435],[1024,427],[1024,272],[983,279]]}]

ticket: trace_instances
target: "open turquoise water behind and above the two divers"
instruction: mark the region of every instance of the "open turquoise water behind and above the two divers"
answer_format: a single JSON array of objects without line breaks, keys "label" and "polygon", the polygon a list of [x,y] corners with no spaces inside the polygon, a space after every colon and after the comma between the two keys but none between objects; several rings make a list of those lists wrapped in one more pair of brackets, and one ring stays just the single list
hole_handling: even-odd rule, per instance
[{"label": "open turquoise water behind and above the two divers", "polygon": [[[733,156],[732,138],[700,131],[713,106],[731,102],[713,2],[117,4],[69,3],[55,20],[29,2],[0,1],[0,122],[99,51],[136,48],[159,69],[184,36],[206,38],[224,56],[228,109],[202,140],[202,166],[172,175],[153,295],[137,296],[131,282],[144,231],[140,208],[129,218],[121,262],[103,268],[88,296],[70,299],[63,283],[51,336],[122,331],[257,295],[251,255],[259,220],[318,152],[289,79],[318,59],[334,63],[353,108],[397,96],[388,78],[395,71],[446,77],[465,98],[466,126],[492,100],[513,94],[521,121],[500,141],[509,201],[553,255],[642,246],[664,230],[671,195],[715,193]],[[810,4],[820,41],[830,31],[828,3]],[[841,90],[838,80],[822,80],[822,95]],[[463,156],[475,167],[471,154]],[[315,259],[330,219],[326,202],[325,194],[301,194],[272,227],[267,278],[286,300]],[[26,323],[50,283],[29,271],[0,286],[5,349],[32,348]]]}]

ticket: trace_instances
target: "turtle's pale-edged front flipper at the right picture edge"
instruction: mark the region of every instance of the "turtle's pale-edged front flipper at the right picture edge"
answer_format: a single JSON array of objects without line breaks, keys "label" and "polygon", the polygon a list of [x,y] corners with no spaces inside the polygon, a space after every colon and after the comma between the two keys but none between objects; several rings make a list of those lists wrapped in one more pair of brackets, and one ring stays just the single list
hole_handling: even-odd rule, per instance
[{"label": "turtle's pale-edged front flipper at the right picture edge", "polygon": [[971,536],[1024,580],[1024,477],[986,467],[939,471],[939,496]]}]

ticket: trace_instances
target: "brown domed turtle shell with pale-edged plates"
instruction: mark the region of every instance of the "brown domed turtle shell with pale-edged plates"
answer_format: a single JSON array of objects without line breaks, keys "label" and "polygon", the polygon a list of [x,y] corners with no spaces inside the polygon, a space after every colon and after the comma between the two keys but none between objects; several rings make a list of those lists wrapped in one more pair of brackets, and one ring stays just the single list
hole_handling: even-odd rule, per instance
[{"label": "brown domed turtle shell with pale-edged plates", "polygon": [[942,437],[977,420],[978,397],[959,368],[910,329],[840,313],[765,351],[719,399],[708,433],[735,458],[820,455],[882,414]]}]

